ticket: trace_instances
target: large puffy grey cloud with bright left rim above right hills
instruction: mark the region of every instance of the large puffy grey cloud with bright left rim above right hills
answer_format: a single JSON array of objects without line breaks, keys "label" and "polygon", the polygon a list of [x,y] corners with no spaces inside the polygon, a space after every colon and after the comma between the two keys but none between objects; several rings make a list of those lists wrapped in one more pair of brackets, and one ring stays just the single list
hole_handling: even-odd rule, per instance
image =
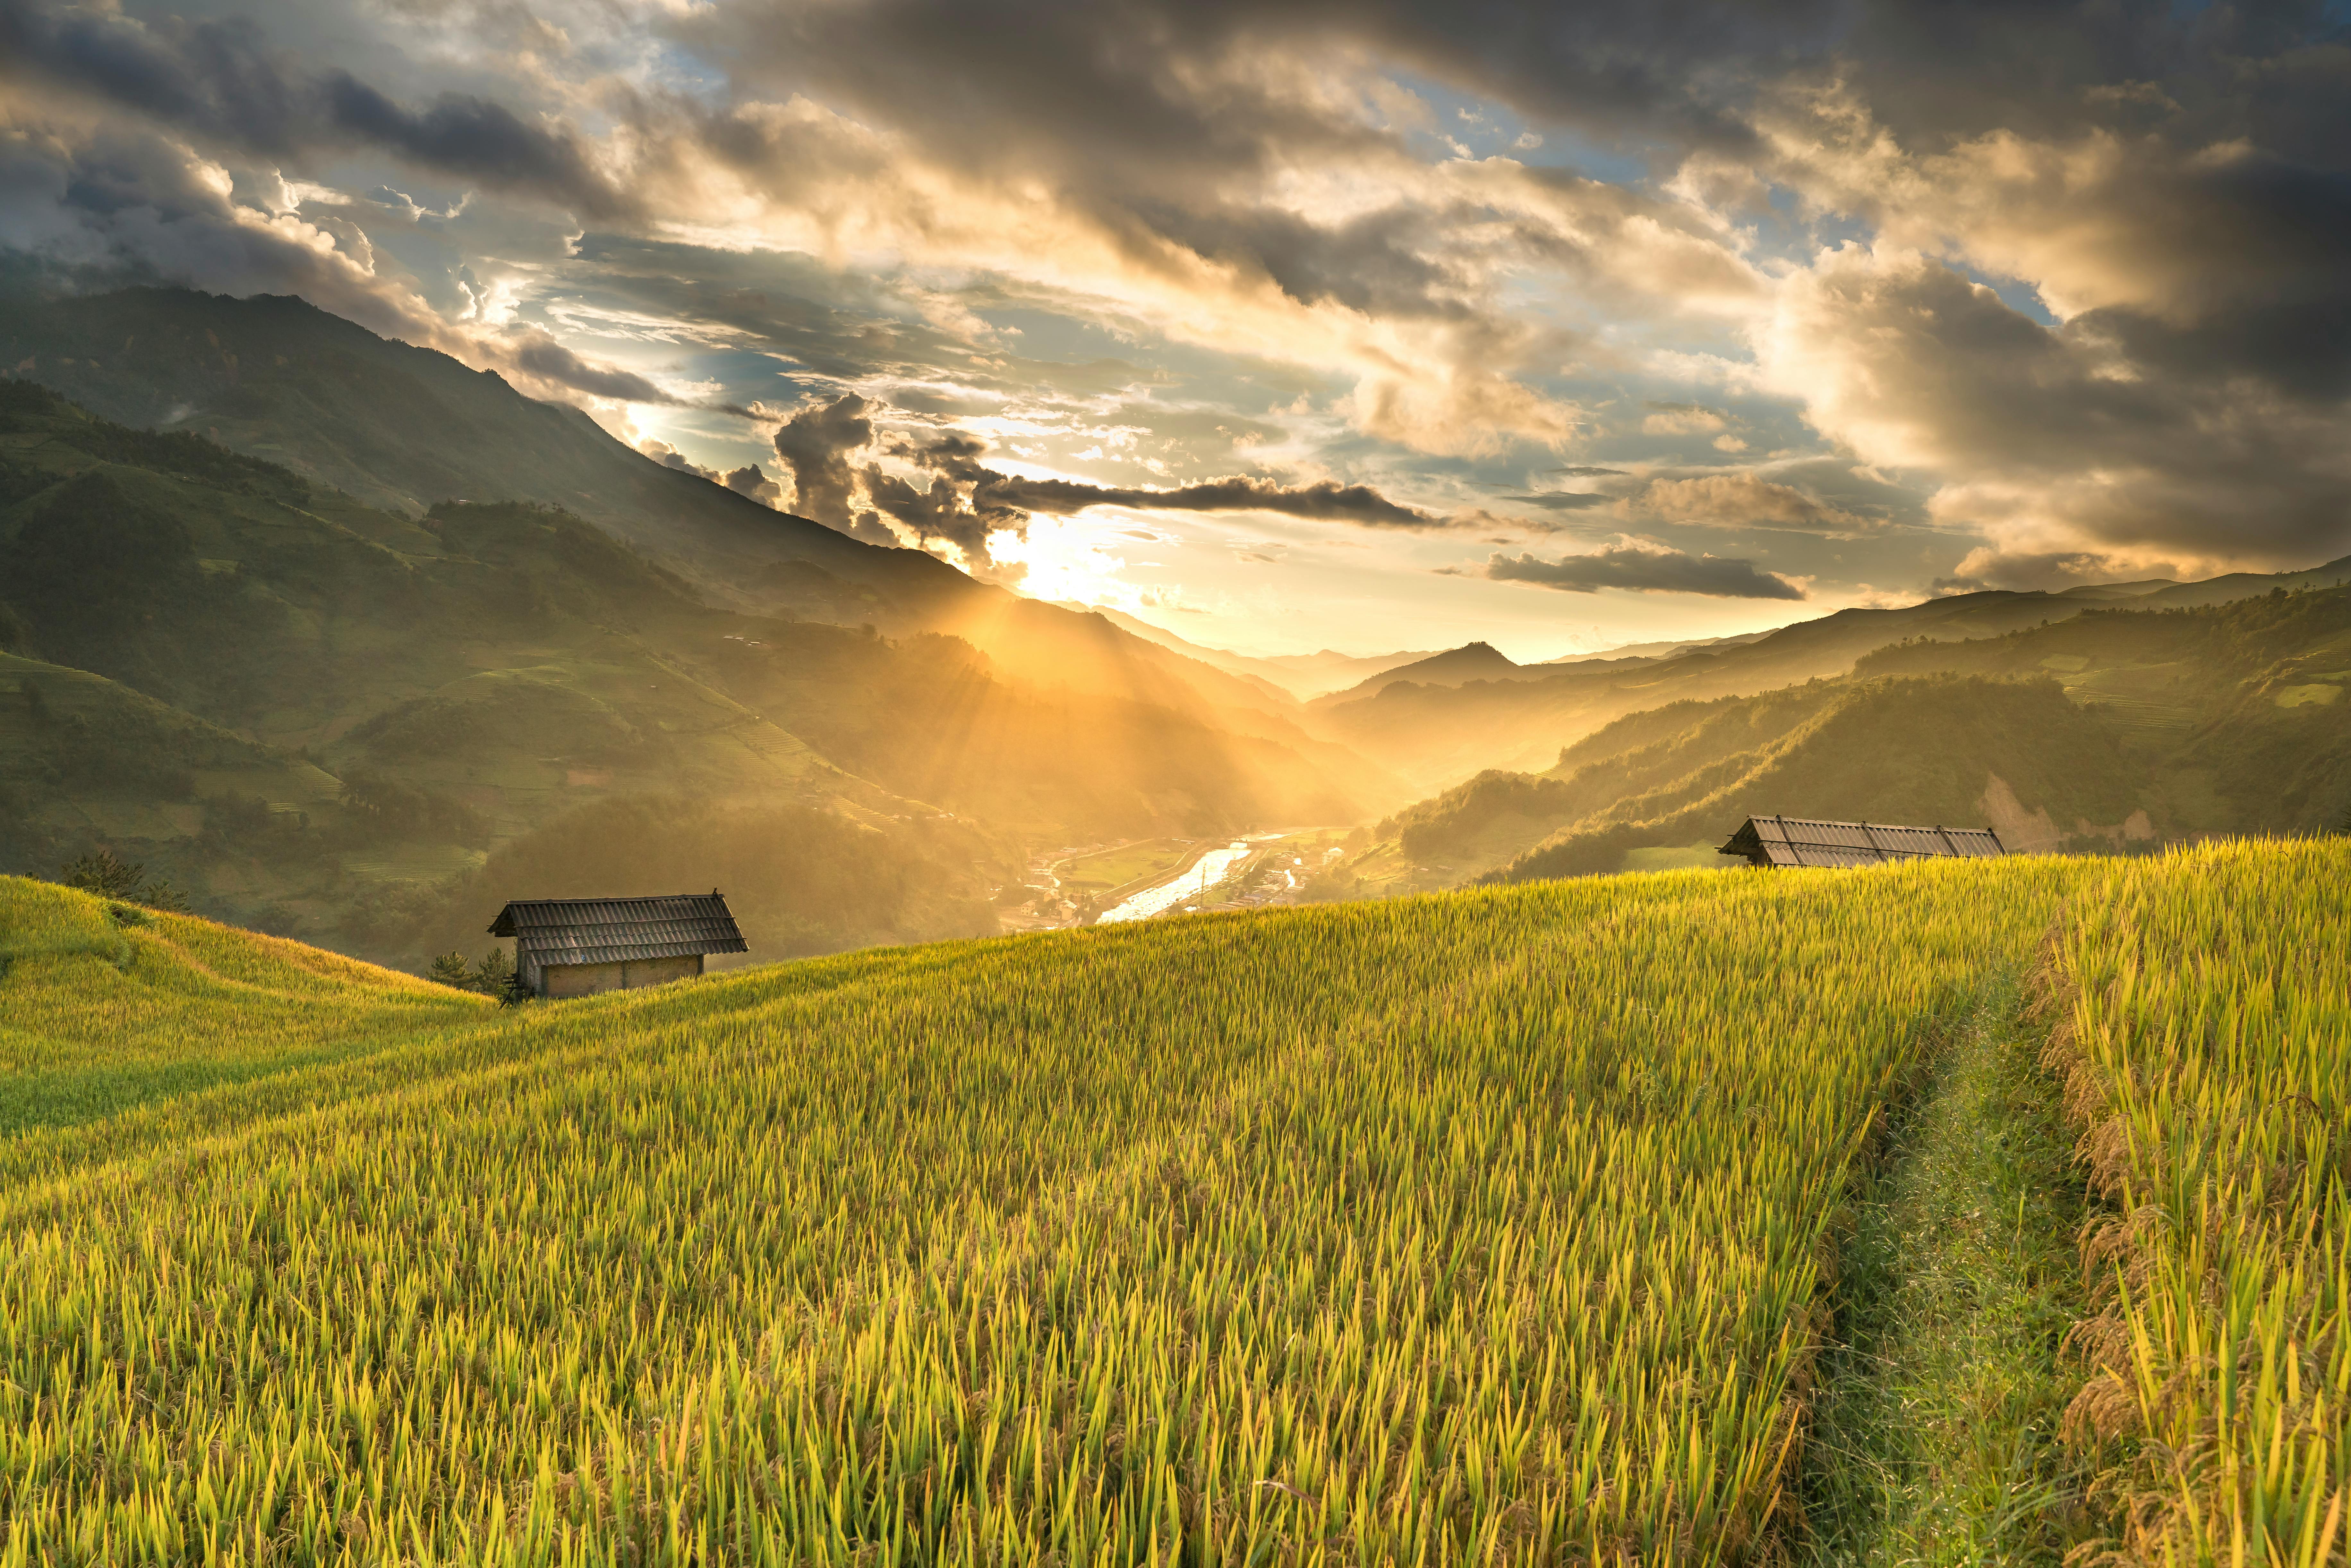
[{"label": "large puffy grey cloud with bright left rim above right hills", "polygon": [[1933,512],[1998,541],[1958,576],[2078,550],[2116,574],[2149,552],[2309,564],[2351,543],[2339,404],[2149,371],[2111,317],[2041,327],[1940,263],[1850,252],[1791,292],[1782,327],[1822,428],[1954,475]]}]

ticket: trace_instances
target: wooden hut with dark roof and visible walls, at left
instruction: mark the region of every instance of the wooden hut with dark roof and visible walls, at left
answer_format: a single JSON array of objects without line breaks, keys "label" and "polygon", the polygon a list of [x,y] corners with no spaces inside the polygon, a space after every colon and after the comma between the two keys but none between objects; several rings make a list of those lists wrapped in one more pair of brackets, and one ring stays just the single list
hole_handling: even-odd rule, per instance
[{"label": "wooden hut with dark roof and visible walls, at left", "polygon": [[661,985],[703,973],[708,952],[750,952],[726,898],[524,898],[498,910],[491,936],[515,938],[515,978],[534,997]]}]

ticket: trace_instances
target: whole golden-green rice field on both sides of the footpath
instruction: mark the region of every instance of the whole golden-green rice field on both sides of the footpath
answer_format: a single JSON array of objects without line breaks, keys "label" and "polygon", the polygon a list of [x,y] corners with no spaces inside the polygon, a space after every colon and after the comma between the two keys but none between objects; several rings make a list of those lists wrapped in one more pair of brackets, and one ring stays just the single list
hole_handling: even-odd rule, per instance
[{"label": "whole golden-green rice field on both sides of the footpath", "polygon": [[0,882],[0,1549],[1801,1561],[1857,1171],[2031,971],[2114,1201],[2067,1528],[2316,1568],[2346,891],[1669,872],[501,1013]]}]

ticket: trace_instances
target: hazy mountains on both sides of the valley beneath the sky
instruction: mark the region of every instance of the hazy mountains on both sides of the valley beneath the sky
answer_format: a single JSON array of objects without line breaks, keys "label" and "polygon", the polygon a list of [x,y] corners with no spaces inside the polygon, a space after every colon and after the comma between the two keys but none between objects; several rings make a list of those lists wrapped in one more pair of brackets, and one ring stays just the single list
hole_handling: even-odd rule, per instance
[{"label": "hazy mountains on both sides of the valley beneath the sky", "polygon": [[[1707,863],[1749,811],[2015,846],[2332,825],[2351,559],[1521,665],[1244,656],[656,463],[294,299],[0,303],[0,858],[416,966],[736,884],[776,957],[994,929],[1056,846],[1366,823],[1321,896]],[[1375,825],[1371,825],[1375,823]]]}]

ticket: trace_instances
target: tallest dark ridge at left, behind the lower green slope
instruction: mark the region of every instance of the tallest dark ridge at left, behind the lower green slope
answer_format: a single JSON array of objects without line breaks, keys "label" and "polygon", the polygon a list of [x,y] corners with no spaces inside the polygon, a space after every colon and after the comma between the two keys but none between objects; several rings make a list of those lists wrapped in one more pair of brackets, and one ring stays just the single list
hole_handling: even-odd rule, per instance
[{"label": "tallest dark ridge at left, behind the lower green slope", "polygon": [[1298,729],[1288,691],[1110,625],[976,583],[924,550],[879,548],[665,468],[567,404],[491,371],[379,339],[299,299],[122,289],[0,299],[0,364],[132,428],[202,435],[374,510],[527,501],[585,517],[684,581],[762,618],[945,632],[1013,679],[1317,750],[1382,804],[1411,790]]}]

